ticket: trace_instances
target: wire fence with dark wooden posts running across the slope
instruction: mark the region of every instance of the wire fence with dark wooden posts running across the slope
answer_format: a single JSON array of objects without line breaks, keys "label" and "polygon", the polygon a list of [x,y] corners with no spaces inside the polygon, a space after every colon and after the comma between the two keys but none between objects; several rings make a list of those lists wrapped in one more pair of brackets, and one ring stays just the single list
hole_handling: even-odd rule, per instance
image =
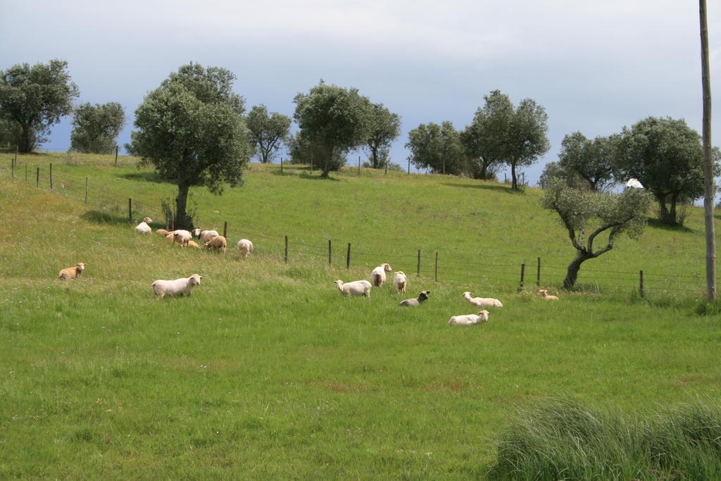
[{"label": "wire fence with dark wooden posts running across the slope", "polygon": [[[6,171],[6,167],[2,167]],[[36,187],[50,189],[53,193],[81,200],[103,216],[104,221],[118,224],[134,224],[143,217],[166,222],[166,228],[172,229],[167,208],[161,200],[138,200],[123,198],[105,190],[103,185],[94,185],[89,177],[76,178],[63,173],[53,172],[52,164],[43,166],[16,164],[10,166],[10,176],[14,180],[26,182]],[[230,226],[233,229],[234,226]],[[223,234],[228,237],[229,224],[224,223]],[[449,249],[438,251],[386,251],[369,252],[358,250],[350,242],[339,239],[296,239],[288,236],[270,236],[260,232],[248,231],[244,226],[244,237],[253,239],[256,247],[265,255],[280,257],[283,262],[302,260],[329,268],[371,268],[388,262],[394,270],[403,270],[407,275],[415,274],[436,282],[453,283],[473,288],[482,294],[484,291],[513,291],[519,288],[541,288],[544,286],[562,286],[567,274],[565,265],[545,265],[541,257],[530,257],[527,252],[477,252],[478,259],[495,259],[497,262],[473,262],[464,255]],[[450,247],[450,246],[449,246]],[[576,286],[580,290],[647,296],[650,293],[682,292],[703,294],[706,279],[703,273],[676,274],[658,273],[646,270],[607,270],[583,267],[578,273]]]}]

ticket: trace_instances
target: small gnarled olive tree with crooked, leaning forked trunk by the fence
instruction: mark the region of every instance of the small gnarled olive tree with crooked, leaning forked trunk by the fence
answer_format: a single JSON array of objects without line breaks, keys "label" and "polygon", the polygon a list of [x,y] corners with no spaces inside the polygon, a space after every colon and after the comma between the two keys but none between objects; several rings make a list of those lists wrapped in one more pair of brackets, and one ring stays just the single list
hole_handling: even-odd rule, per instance
[{"label": "small gnarled olive tree with crooked, leaning forked trunk by the fence", "polygon": [[[617,195],[583,193],[568,187],[563,180],[550,180],[541,205],[558,214],[576,250],[563,287],[573,288],[581,264],[613,249],[619,235],[638,239],[645,229],[645,213],[651,201],[651,196],[643,189],[627,188]],[[608,238],[601,246],[594,245],[601,234],[608,234]]]}]

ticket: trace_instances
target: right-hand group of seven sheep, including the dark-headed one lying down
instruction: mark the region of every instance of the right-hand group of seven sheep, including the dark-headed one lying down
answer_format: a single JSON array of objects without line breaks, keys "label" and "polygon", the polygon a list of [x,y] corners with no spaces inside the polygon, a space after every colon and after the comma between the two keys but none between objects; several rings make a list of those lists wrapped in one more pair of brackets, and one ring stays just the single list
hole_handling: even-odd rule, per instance
[{"label": "right-hand group of seven sheep, including the dark-headed one lying down", "polygon": [[[343,282],[340,279],[335,281],[335,286],[340,291],[340,294],[344,296],[363,296],[366,299],[371,297],[371,287],[381,287],[386,282],[386,272],[392,272],[392,268],[387,263],[381,264],[371,271],[371,282],[368,281],[353,281]],[[407,277],[402,270],[397,271],[393,278],[393,286],[396,289],[397,294],[405,294],[407,286]],[[547,301],[557,301],[557,296],[550,296],[548,291],[541,289],[539,295]],[[398,303],[399,306],[420,306],[420,304],[428,299],[430,291],[421,291],[416,299],[405,299]],[[473,306],[482,307],[503,307],[503,304],[498,299],[491,297],[472,297],[473,294],[470,292],[464,292],[463,297],[466,301],[469,301]],[[479,324],[480,322],[486,322],[490,312],[486,310],[480,311],[478,314],[464,314],[461,316],[453,316],[448,319],[448,325],[451,326],[469,326]]]}]

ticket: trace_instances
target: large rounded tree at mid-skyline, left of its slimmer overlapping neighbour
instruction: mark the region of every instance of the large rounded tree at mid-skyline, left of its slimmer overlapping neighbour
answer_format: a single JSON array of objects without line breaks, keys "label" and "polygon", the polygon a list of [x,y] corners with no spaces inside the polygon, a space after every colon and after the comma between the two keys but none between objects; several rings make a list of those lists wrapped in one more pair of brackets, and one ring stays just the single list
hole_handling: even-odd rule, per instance
[{"label": "large rounded tree at mid-skyline, left of its slimmer overlapping neighbour", "polygon": [[293,102],[293,118],[304,141],[313,145],[314,164],[322,169],[322,177],[340,169],[345,154],[365,144],[371,131],[371,101],[358,89],[321,81],[307,94],[297,94]]}]

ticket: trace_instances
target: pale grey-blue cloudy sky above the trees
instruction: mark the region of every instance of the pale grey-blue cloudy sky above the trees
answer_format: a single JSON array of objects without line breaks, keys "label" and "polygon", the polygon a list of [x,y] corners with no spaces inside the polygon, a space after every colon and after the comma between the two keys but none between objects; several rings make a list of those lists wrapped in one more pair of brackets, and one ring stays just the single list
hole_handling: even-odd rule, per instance
[{"label": "pale grey-blue cloudy sky above the trees", "polygon": [[[721,5],[708,3],[721,125]],[[60,58],[78,102],[120,102],[121,144],[143,97],[191,61],[229,69],[247,107],[285,115],[319,79],[356,87],[401,115],[392,160],[402,165],[420,123],[462,129],[494,89],[514,104],[530,97],[547,110],[552,146],[526,169],[531,185],[573,131],[605,136],[650,115],[701,130],[691,0],[0,0],[0,45],[0,69]],[[66,118],[44,148],[66,151],[69,137]],[[713,137],[721,145],[721,128]]]}]

